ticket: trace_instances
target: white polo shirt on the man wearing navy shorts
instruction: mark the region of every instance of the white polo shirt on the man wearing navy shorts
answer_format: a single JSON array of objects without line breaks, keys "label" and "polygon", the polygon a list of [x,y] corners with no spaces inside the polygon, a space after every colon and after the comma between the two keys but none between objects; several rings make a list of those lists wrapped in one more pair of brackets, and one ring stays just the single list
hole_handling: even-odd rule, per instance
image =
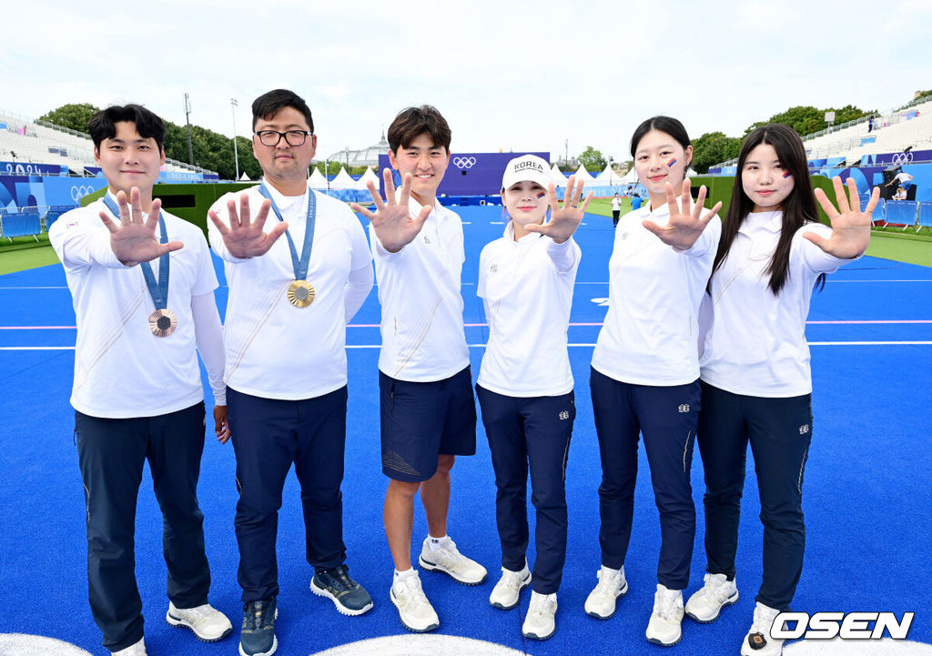
[{"label": "white polo shirt on the man wearing navy shorts", "polygon": [[[408,202],[411,216],[421,205]],[[418,236],[389,253],[369,226],[382,305],[378,369],[412,382],[443,380],[469,364],[459,278],[466,255],[456,212],[434,202]]]}]

